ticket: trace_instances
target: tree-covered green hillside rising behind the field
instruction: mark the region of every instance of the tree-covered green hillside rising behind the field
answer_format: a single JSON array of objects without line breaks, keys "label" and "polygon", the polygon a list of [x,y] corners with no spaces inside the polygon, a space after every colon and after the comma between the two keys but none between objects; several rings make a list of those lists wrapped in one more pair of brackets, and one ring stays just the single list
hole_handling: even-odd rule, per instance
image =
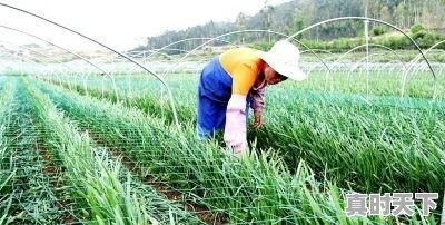
[{"label": "tree-covered green hillside rising behind the field", "polygon": [[[362,0],[293,0],[278,6],[267,6],[256,14],[239,13],[234,22],[209,21],[205,25],[189,27],[179,31],[167,31],[160,36],[148,37],[147,45],[138,49],[157,49],[168,43],[196,37],[217,37],[222,33],[237,30],[273,30],[285,35],[295,33],[303,28],[316,22],[346,16],[380,19],[390,22],[402,29],[409,29],[413,25],[421,23],[426,30],[443,33],[445,31],[445,2],[442,0],[389,0],[369,1],[364,4]],[[378,26],[370,23],[370,28]],[[385,31],[390,31],[386,27]],[[362,36],[364,26],[362,21],[343,21],[317,27],[305,32],[303,37],[309,40],[323,41],[336,38],[350,38]],[[225,37],[230,42],[261,42],[279,39],[278,36],[269,36],[265,32],[251,32]],[[191,49],[202,43],[200,40],[186,41],[175,46],[178,50],[169,53],[178,53],[179,50]],[[214,42],[212,45],[222,45]]]}]

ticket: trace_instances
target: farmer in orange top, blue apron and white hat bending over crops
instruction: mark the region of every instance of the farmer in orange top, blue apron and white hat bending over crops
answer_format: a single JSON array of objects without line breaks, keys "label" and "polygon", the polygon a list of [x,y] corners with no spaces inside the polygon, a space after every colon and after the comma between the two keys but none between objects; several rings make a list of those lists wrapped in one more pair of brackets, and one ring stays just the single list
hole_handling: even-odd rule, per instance
[{"label": "farmer in orange top, blue apron and white hat bending over crops", "polygon": [[263,125],[266,86],[287,78],[306,78],[298,60],[298,48],[287,40],[276,42],[267,52],[241,47],[210,60],[198,87],[198,138],[209,138],[215,130],[224,129],[226,145],[240,155],[248,147],[249,105],[254,109],[254,127],[258,128]]}]

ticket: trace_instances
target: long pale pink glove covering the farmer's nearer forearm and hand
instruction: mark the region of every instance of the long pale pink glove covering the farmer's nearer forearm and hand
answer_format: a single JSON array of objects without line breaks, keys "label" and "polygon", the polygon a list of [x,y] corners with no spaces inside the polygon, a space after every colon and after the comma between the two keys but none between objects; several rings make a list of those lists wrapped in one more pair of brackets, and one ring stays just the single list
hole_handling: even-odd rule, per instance
[{"label": "long pale pink glove covering the farmer's nearer forearm and hand", "polygon": [[247,148],[246,138],[246,96],[234,94],[227,105],[224,140],[228,147],[240,155]]}]

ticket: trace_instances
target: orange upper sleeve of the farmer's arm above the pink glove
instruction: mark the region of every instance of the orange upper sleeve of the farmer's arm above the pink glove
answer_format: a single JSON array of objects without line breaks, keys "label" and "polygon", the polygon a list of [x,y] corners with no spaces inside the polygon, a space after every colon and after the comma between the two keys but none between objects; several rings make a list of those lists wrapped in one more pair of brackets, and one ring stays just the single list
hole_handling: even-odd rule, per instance
[{"label": "orange upper sleeve of the farmer's arm above the pink glove", "polygon": [[247,96],[255,84],[258,74],[251,66],[241,63],[236,67],[233,72],[231,94]]}]

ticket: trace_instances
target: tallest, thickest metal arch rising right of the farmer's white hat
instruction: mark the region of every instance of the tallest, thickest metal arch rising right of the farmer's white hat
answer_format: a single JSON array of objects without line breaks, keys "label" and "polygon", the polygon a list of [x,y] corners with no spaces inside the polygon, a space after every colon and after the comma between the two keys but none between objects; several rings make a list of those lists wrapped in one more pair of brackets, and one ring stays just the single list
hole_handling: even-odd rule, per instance
[{"label": "tallest, thickest metal arch rising right of the farmer's white hat", "polygon": [[367,17],[338,17],[338,18],[334,18],[334,19],[324,20],[324,21],[317,22],[317,23],[315,23],[315,25],[312,25],[312,26],[309,26],[309,27],[306,27],[306,28],[304,28],[303,30],[300,30],[300,31],[298,31],[298,32],[295,32],[294,35],[289,36],[288,39],[294,38],[294,37],[297,37],[297,36],[299,36],[299,35],[301,35],[303,32],[305,32],[305,31],[307,31],[307,30],[310,30],[310,29],[313,29],[313,28],[315,28],[315,27],[318,27],[318,26],[320,26],[320,25],[328,23],[328,22],[335,22],[335,21],[342,21],[342,20],[363,20],[363,21],[378,22],[378,23],[386,25],[386,26],[388,26],[388,27],[390,27],[390,28],[393,28],[393,29],[395,29],[395,30],[402,32],[406,38],[409,39],[409,41],[416,47],[416,49],[418,50],[418,52],[419,52],[419,53],[422,55],[422,57],[425,59],[426,63],[427,63],[428,67],[429,67],[429,70],[431,70],[432,74],[433,74],[434,80],[436,80],[436,74],[434,72],[433,67],[429,65],[429,61],[428,61],[428,59],[425,57],[425,55],[424,55],[424,52],[422,51],[421,47],[418,47],[417,42],[416,42],[412,37],[409,37],[405,31],[403,31],[400,28],[398,28],[398,27],[396,27],[396,26],[394,26],[394,25],[390,25],[390,23],[388,23],[388,22],[385,22],[385,21],[383,21],[383,20],[377,20],[377,19],[373,19],[373,18],[367,18]]}]

